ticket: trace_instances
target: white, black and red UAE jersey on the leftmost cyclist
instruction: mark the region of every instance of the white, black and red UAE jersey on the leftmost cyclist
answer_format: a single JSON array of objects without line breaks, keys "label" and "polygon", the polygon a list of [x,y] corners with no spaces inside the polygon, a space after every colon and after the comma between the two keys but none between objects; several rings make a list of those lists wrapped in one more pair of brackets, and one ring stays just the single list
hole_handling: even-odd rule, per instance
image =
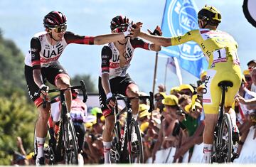
[{"label": "white, black and red UAE jersey on the leftmost cyclist", "polygon": [[33,69],[47,68],[55,63],[64,48],[70,43],[93,45],[94,38],[90,36],[78,36],[69,31],[65,32],[62,41],[58,41],[55,45],[50,45],[46,38],[47,32],[36,33],[31,39],[31,50],[25,58],[25,65],[33,67]]}]

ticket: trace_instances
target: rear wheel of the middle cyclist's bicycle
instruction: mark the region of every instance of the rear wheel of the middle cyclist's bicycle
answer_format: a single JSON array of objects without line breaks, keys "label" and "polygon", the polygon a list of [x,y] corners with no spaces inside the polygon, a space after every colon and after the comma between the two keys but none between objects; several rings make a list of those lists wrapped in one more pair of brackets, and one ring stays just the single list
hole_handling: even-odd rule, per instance
[{"label": "rear wheel of the middle cyclist's bicycle", "polygon": [[120,161],[121,157],[120,157],[120,153],[119,153],[119,149],[120,149],[120,145],[119,145],[120,131],[121,131],[120,123],[116,122],[114,124],[114,130],[113,130],[114,139],[112,141],[112,146],[111,146],[111,149],[110,149],[110,161],[111,161],[111,163],[121,163],[121,161]]}]

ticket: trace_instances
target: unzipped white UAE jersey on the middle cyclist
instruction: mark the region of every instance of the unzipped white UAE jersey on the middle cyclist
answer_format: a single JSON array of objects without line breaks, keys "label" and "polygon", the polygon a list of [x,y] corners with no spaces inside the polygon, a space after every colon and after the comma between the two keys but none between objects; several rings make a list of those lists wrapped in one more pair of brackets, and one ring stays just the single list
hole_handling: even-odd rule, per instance
[{"label": "unzipped white UAE jersey on the middle cyclist", "polygon": [[[129,38],[125,45],[125,52],[120,55],[114,43],[109,43],[102,48],[102,65],[101,74],[108,73],[110,79],[114,77],[124,77],[127,74],[127,69],[130,66],[135,48],[143,48],[149,50],[150,44],[140,38]],[[126,63],[123,67],[119,65],[119,56],[124,56]],[[100,77],[101,77],[100,74]]]}]

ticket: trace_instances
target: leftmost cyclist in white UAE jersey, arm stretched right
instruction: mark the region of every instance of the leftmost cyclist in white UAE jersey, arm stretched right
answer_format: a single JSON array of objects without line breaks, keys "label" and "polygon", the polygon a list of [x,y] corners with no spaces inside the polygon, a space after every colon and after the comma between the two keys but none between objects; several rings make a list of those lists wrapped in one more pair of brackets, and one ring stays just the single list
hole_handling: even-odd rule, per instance
[{"label": "leftmost cyclist in white UAE jersey, arm stretched right", "polygon": [[[129,26],[126,32],[107,34],[102,36],[78,36],[66,31],[67,19],[60,11],[51,11],[43,19],[46,31],[36,33],[31,39],[31,50],[25,58],[25,77],[28,87],[29,97],[38,107],[39,115],[36,122],[36,139],[38,141],[38,151],[36,163],[44,163],[43,144],[46,138],[46,125],[50,113],[50,104],[46,108],[42,107],[41,94],[48,95],[46,80],[60,89],[70,86],[70,77],[58,62],[58,58],[63,53],[64,48],[70,43],[102,45],[113,41],[123,40],[132,32]],[[38,94],[38,91],[41,94]],[[65,91],[68,111],[71,106],[71,92]]]}]

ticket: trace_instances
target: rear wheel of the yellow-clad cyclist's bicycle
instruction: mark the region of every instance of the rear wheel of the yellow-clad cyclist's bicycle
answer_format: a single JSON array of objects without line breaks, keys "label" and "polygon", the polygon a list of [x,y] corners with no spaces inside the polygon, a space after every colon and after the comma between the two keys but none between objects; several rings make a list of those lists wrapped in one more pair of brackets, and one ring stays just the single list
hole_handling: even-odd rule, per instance
[{"label": "rear wheel of the yellow-clad cyclist's bicycle", "polygon": [[223,121],[220,124],[220,155],[218,163],[229,163],[232,152],[232,123],[228,113],[223,115]]}]

